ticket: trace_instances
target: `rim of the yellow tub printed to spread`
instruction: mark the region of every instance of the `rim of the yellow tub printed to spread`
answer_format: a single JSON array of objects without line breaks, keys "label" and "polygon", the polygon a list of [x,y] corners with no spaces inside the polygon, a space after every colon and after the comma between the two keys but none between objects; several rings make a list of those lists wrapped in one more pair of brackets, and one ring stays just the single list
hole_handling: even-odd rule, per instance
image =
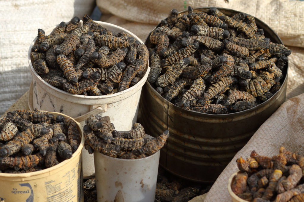
[{"label": "rim of the yellow tub printed to spread", "polygon": [[[82,148],[84,147],[84,144],[85,144],[85,138],[83,136],[83,130],[82,130],[82,127],[81,127],[80,123],[78,123],[77,121],[75,121],[71,116],[67,116],[67,115],[65,115],[63,113],[49,112],[49,111],[45,111],[45,110],[39,110],[39,111],[47,112],[47,113],[53,114],[54,116],[56,115],[56,117],[58,115],[62,115],[62,116],[71,118],[77,124],[78,131],[81,133],[81,142],[80,142],[77,150],[73,153],[73,155],[72,155],[72,157],[70,159],[66,159],[66,160],[58,163],[55,166],[52,166],[52,167],[49,167],[49,168],[45,168],[43,170],[29,172],[29,173],[0,173],[0,179],[1,180],[3,180],[2,178],[7,178],[7,177],[16,178],[17,179],[17,178],[35,177],[35,176],[39,176],[41,174],[46,174],[46,173],[49,173],[49,175],[50,174],[54,174],[54,173],[57,173],[57,172],[60,171],[60,169],[58,169],[58,168],[62,167],[64,164],[71,163],[71,161],[74,160],[78,155],[81,155],[81,150],[82,150]],[[54,170],[57,170],[57,171],[53,172]],[[21,181],[23,181],[23,180],[21,180]]]}]

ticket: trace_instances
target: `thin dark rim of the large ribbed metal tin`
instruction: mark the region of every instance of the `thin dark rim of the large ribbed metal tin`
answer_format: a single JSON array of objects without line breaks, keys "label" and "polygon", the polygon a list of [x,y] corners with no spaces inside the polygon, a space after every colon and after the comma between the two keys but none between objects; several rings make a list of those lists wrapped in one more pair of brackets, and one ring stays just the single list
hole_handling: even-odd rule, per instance
[{"label": "thin dark rim of the large ribbed metal tin", "polygon": [[[217,8],[217,9],[219,9],[220,11],[224,11],[224,12],[235,12],[235,13],[244,13],[244,12],[240,12],[240,11],[237,11],[237,10],[234,10],[234,9],[230,9],[230,8],[222,8],[222,7],[215,7],[215,6],[209,6],[209,7],[199,7],[199,8],[195,8],[195,9],[193,9],[193,11],[194,12],[200,12],[200,11],[205,11],[205,10],[207,10],[207,9],[209,9],[209,8]],[[183,11],[180,11],[180,12],[178,12],[178,16],[180,16],[180,15],[182,15],[182,14],[184,14],[184,13],[187,13],[188,12],[188,10],[183,10]],[[245,13],[246,14],[246,13]],[[253,16],[253,15],[252,15]],[[259,26],[263,26],[263,27],[267,27],[267,33],[268,34],[273,34],[277,39],[275,39],[275,40],[278,40],[277,42],[279,42],[279,44],[283,44],[283,42],[282,42],[282,39],[279,37],[279,35],[273,30],[273,29],[271,29],[265,22],[263,22],[262,20],[260,20],[260,19],[258,19],[257,17],[255,17],[255,16],[253,16],[254,17],[254,19],[255,19],[255,22],[257,22],[257,25],[259,25]],[[167,19],[167,18],[166,18]],[[149,39],[149,37],[150,37],[150,35],[151,35],[151,33],[157,28],[157,27],[159,27],[161,25],[161,23],[158,23],[150,32],[149,32],[149,34],[147,35],[147,38],[145,39],[145,44],[147,44],[148,42],[150,42],[150,39]],[[272,32],[272,33],[271,33]],[[284,45],[284,44],[283,44]],[[287,58],[288,58],[288,56],[287,56]],[[193,113],[193,114],[196,114],[196,115],[198,115],[198,114],[202,114],[202,115],[204,115],[204,116],[210,116],[210,117],[213,117],[213,118],[223,118],[223,119],[229,119],[229,118],[234,118],[234,117],[237,117],[237,116],[239,116],[239,115],[243,115],[243,114],[249,114],[249,112],[253,112],[253,111],[257,111],[257,109],[259,109],[259,108],[261,108],[261,107],[263,107],[263,106],[265,106],[265,105],[267,105],[267,104],[269,104],[269,102],[271,102],[271,100],[273,100],[273,99],[276,99],[276,97],[277,97],[277,95],[279,94],[279,93],[281,93],[282,92],[282,90],[283,90],[283,86],[284,85],[287,85],[287,80],[288,80],[288,69],[289,69],[289,61],[287,61],[287,64],[286,64],[286,74],[285,74],[285,78],[284,78],[284,81],[282,82],[282,84],[281,84],[281,87],[280,87],[280,89],[277,91],[277,92],[275,92],[269,99],[267,99],[265,102],[263,102],[263,103],[260,103],[260,104],[258,104],[257,106],[254,106],[254,107],[252,107],[252,108],[250,108],[250,109],[246,109],[246,110],[243,110],[243,111],[240,111],[240,112],[233,112],[233,113],[228,113],[228,114],[209,114],[209,113],[202,113],[202,112],[196,112],[196,111],[192,111],[192,110],[188,110],[188,109],[184,109],[184,108],[181,108],[180,106],[177,106],[177,105],[174,105],[173,103],[171,103],[171,102],[169,102],[168,100],[166,100],[163,96],[161,96],[152,86],[151,86],[151,84],[150,84],[150,82],[147,80],[146,81],[146,85],[148,86],[148,88],[150,89],[150,90],[152,90],[152,92],[154,93],[154,95],[155,96],[157,96],[158,97],[158,99],[160,99],[160,100],[162,100],[163,102],[165,102],[166,103],[166,105],[168,106],[168,107],[170,107],[171,105],[172,105],[172,107],[174,107],[174,108],[177,108],[177,109],[179,109],[179,110],[181,110],[181,112],[184,112],[184,113]]]}]

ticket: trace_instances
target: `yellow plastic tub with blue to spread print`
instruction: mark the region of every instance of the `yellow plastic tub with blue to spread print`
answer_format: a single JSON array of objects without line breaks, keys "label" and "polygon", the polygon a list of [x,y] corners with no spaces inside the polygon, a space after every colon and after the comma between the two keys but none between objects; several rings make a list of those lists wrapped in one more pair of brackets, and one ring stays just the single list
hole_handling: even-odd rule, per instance
[{"label": "yellow plastic tub with blue to spread print", "polygon": [[[52,113],[66,116],[62,113]],[[83,202],[81,151],[84,145],[82,127],[81,143],[72,158],[56,166],[31,173],[0,173],[0,201],[6,202]]]}]

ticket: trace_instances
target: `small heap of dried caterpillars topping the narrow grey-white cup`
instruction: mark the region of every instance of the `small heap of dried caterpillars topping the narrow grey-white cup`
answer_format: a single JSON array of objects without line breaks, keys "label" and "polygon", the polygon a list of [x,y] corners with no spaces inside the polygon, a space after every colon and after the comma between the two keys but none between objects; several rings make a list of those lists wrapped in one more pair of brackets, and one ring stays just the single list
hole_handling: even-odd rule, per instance
[{"label": "small heap of dried caterpillars topping the narrow grey-white cup", "polygon": [[150,156],[160,150],[168,136],[166,130],[157,138],[146,138],[140,123],[134,123],[132,130],[118,132],[109,116],[90,116],[83,127],[85,149],[89,153],[101,152],[107,156],[122,159],[138,159]]}]

